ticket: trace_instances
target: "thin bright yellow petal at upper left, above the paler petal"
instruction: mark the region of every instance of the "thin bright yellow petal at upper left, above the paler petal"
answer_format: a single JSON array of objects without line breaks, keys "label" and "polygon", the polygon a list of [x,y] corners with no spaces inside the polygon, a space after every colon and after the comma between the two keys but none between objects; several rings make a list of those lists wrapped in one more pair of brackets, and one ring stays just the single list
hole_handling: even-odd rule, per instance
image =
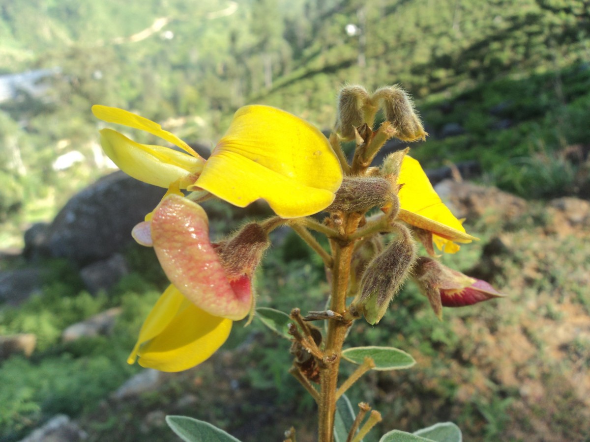
[{"label": "thin bright yellow petal at upper left, above the paler petal", "polygon": [[106,121],[107,123],[122,124],[123,126],[146,131],[152,135],[155,135],[156,137],[160,137],[163,140],[174,144],[175,146],[180,147],[182,150],[186,151],[186,153],[191,154],[191,156],[201,158],[191,146],[186,144],[175,134],[172,134],[167,130],[163,130],[162,126],[160,126],[158,123],[154,123],[152,120],[148,120],[148,118],[141,117],[123,109],[103,106],[100,104],[93,105],[92,113],[96,118]]}]

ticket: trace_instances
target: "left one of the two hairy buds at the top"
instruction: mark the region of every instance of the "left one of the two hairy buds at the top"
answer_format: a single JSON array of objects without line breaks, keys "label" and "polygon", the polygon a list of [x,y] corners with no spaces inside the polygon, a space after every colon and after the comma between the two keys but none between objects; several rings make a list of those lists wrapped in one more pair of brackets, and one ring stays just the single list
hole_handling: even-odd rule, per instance
[{"label": "left one of the two hairy buds at the top", "polygon": [[338,95],[336,131],[345,140],[355,139],[355,127],[366,121],[366,110],[371,108],[368,92],[362,86],[343,87]]}]

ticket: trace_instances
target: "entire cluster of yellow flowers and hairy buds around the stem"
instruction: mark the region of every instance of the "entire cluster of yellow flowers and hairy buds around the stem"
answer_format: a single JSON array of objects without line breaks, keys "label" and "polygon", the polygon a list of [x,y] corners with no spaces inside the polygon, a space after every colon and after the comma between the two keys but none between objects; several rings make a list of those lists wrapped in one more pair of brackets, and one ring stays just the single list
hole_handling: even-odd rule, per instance
[{"label": "entire cluster of yellow flowers and hairy buds around the stem", "polygon": [[[373,134],[366,123],[372,121],[379,105],[388,116],[383,140],[390,136],[406,141],[425,137],[411,102],[398,88],[383,88],[372,96],[360,87],[343,91],[336,126],[339,135],[333,134],[330,141],[316,127],[277,108],[243,107],[208,160],[153,121],[117,108],[93,107],[100,120],[146,131],[180,149],[136,143],[110,128],[100,131],[104,151],[120,169],[168,189],[132,232],[137,242],[154,248],[171,285],[146,318],[130,364],[138,360],[144,367],[162,371],[194,367],[225,342],[233,321],[253,314],[253,275],[269,245],[268,231],[274,227],[253,222],[234,236],[212,243],[207,214],[198,204],[209,197],[239,207],[263,199],[285,223],[296,223],[291,219],[322,210],[336,217],[355,213],[360,220],[372,207],[381,209],[380,220],[385,223],[381,231],[397,230],[401,235],[385,250],[373,251],[355,271],[362,281],[353,304],[372,324],[385,314],[412,271],[417,259],[412,235],[433,256],[433,244],[454,253],[459,249],[457,243],[476,239],[441,202],[418,161],[407,155],[408,150],[391,154],[379,170],[366,166],[350,170],[338,151],[339,141],[335,144],[334,140],[356,137],[358,145],[368,146],[359,164],[363,159],[370,162],[382,134]],[[183,190],[189,193],[185,195]],[[341,241],[352,240],[346,236],[350,232],[333,232]],[[431,303],[437,302],[433,293],[438,289],[442,301],[437,305],[452,305],[448,301],[451,295],[441,290],[454,280],[440,283],[444,271],[433,271],[421,259],[418,262],[418,281],[426,287]],[[444,275],[444,281],[453,279]],[[474,285],[471,280],[468,283]],[[458,293],[463,301],[454,305],[473,304],[471,298],[461,295],[464,291]],[[499,295],[487,293],[489,297]]]}]

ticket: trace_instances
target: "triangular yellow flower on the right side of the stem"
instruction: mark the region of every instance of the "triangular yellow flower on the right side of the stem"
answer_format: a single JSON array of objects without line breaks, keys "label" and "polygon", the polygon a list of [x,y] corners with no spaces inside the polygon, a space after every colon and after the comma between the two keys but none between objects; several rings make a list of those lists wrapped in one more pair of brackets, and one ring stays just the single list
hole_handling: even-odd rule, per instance
[{"label": "triangular yellow flower on the right side of the stem", "polygon": [[[434,242],[439,250],[455,253],[460,248],[455,242],[470,243],[477,240],[465,232],[461,222],[442,203],[420,163],[408,155],[402,161],[398,184],[401,184],[398,194],[399,219],[429,232],[432,235],[431,243]],[[428,244],[425,245],[428,249]]]}]

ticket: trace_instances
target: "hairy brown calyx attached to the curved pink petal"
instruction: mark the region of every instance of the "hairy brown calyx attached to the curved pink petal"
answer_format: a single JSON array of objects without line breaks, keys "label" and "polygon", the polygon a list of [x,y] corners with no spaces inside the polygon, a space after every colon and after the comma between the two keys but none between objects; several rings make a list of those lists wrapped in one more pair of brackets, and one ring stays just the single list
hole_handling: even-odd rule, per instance
[{"label": "hairy brown calyx attached to the curved pink petal", "polygon": [[225,274],[229,279],[253,275],[264,252],[270,245],[266,230],[258,223],[248,223],[230,239],[217,244]]}]

